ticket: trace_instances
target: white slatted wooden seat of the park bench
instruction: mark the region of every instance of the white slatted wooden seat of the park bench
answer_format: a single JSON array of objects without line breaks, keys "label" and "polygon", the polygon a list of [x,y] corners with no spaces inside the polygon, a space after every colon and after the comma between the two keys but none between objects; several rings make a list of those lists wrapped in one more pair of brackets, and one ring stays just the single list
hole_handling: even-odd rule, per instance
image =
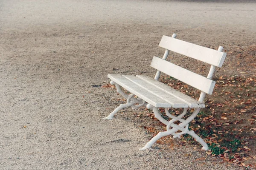
[{"label": "white slatted wooden seat of the park bench", "polygon": [[204,108],[205,104],[143,75],[108,74],[108,77],[157,108]]}]

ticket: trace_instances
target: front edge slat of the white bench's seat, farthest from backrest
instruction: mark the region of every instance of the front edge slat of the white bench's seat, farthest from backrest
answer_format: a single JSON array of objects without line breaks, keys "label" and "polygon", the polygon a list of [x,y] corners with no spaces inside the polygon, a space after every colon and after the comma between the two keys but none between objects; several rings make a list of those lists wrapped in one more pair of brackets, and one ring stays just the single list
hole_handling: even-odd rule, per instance
[{"label": "front edge slat of the white bench's seat, farthest from backrest", "polygon": [[108,74],[108,78],[131,92],[132,94],[135,94],[136,96],[142,98],[146,102],[150,103],[154,107],[157,108],[170,108],[172,105],[165,100],[155,96],[154,94],[151,94],[144,88],[141,88],[140,86],[134,84],[130,80],[126,79],[125,77],[122,77],[119,74]]}]

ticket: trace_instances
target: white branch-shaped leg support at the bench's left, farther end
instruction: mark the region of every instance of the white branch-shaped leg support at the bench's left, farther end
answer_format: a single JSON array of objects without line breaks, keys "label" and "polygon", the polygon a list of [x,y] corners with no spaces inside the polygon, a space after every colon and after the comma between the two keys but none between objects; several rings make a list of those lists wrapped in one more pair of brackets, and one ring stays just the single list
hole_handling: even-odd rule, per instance
[{"label": "white branch-shaped leg support at the bench's left, farther end", "polygon": [[[125,94],[120,86],[118,84],[116,84],[115,82],[111,81],[111,85],[115,85],[116,86],[116,90],[119,94],[121,94],[122,96],[124,96],[127,100],[127,102],[125,104],[121,104],[119,105],[113,112],[111,112],[107,117],[103,118],[103,119],[108,119],[111,120],[113,119],[113,117],[115,116],[115,114],[122,110],[123,108],[128,108],[128,107],[132,107],[133,109],[137,109],[140,106],[146,105],[147,103],[145,103],[145,101],[143,101],[142,99],[136,99],[134,98],[134,94]],[[134,105],[136,103],[139,103],[139,105]]]}]

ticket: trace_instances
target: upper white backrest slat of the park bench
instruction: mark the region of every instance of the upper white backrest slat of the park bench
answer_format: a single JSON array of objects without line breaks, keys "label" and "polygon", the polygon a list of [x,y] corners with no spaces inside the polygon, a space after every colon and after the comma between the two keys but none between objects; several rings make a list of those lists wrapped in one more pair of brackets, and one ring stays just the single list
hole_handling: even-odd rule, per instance
[{"label": "upper white backrest slat of the park bench", "polygon": [[195,45],[190,42],[185,42],[167,36],[162,37],[159,46],[187,57],[198,59],[210,65],[215,65],[216,67],[222,66],[227,55],[221,51],[202,47],[200,45]]}]

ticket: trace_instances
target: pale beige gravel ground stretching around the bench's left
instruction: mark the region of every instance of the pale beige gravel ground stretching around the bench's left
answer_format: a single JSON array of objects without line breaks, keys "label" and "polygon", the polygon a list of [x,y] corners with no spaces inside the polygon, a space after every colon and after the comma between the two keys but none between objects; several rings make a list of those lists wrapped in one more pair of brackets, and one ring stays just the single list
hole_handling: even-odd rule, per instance
[{"label": "pale beige gravel ground stretching around the bench's left", "polygon": [[[143,110],[102,120],[122,97],[101,86],[110,73],[153,76],[149,65],[163,55],[162,35],[214,48],[255,43],[255,9],[256,3],[0,1],[0,169],[240,169],[216,157],[198,159],[205,156],[199,147],[139,151],[151,135],[131,117]],[[226,74],[234,74],[233,61],[224,63]]]}]

